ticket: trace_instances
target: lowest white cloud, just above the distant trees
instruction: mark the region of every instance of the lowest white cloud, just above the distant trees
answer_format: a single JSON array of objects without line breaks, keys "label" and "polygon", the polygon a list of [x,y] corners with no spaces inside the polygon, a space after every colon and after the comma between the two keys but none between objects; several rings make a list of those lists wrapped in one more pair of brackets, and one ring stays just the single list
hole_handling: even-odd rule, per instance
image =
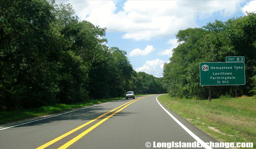
[{"label": "lowest white cloud, just above the distant trees", "polygon": [[146,61],[142,67],[135,69],[135,71],[140,72],[143,71],[148,74],[152,74],[153,76],[159,77],[163,76],[161,72],[163,72],[164,68],[164,60],[151,60]]}]

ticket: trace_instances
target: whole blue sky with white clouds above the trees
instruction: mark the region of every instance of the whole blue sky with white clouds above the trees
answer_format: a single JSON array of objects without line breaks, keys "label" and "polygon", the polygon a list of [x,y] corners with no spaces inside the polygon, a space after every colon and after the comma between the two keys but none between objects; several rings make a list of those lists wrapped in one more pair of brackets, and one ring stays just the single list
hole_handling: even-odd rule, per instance
[{"label": "whole blue sky with white clouds above the trees", "polygon": [[107,28],[105,43],[127,52],[137,72],[163,76],[175,34],[256,11],[256,0],[56,0],[71,3],[79,20]]}]

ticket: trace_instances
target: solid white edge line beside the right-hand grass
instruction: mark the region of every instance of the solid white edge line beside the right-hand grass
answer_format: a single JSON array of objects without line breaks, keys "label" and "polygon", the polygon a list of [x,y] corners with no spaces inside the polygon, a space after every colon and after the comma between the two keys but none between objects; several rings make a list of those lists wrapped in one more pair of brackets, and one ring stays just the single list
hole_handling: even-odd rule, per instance
[{"label": "solid white edge line beside the right-hand grass", "polygon": [[[159,95],[161,96],[161,95]],[[157,96],[158,97],[158,96]],[[192,131],[190,131],[186,126],[184,126],[178,119],[176,119],[168,110],[166,110],[163,105],[161,105],[159,103],[159,101],[157,100],[157,97],[156,97],[156,101],[157,103],[160,105],[160,107],[162,109],[164,109],[164,111],[170,115],[171,118],[173,118],[174,121],[176,121],[185,131],[187,131],[188,134],[190,134],[195,140],[197,140],[197,142],[199,142],[200,144],[203,145],[204,148],[206,149],[212,149],[209,145],[207,145],[203,140],[201,140],[199,137],[197,137],[197,135],[195,135],[194,133],[192,133]]]}]

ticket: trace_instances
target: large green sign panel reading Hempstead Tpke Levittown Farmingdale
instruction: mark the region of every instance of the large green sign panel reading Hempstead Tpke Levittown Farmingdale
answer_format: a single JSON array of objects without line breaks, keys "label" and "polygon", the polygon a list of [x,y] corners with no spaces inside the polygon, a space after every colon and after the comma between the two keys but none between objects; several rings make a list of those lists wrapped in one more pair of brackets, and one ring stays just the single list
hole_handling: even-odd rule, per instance
[{"label": "large green sign panel reading Hempstead Tpke Levittown Farmingdale", "polygon": [[200,63],[200,85],[245,85],[244,62]]}]

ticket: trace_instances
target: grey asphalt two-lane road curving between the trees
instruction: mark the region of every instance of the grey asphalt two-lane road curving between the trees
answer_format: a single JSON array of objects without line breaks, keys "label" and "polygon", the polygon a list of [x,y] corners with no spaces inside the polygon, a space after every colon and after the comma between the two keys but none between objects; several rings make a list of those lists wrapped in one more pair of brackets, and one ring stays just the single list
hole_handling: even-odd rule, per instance
[{"label": "grey asphalt two-lane road curving between the trees", "polygon": [[123,99],[2,129],[0,149],[147,149],[149,143],[154,148],[161,142],[217,142],[175,112],[166,110],[168,114],[157,96]]}]

